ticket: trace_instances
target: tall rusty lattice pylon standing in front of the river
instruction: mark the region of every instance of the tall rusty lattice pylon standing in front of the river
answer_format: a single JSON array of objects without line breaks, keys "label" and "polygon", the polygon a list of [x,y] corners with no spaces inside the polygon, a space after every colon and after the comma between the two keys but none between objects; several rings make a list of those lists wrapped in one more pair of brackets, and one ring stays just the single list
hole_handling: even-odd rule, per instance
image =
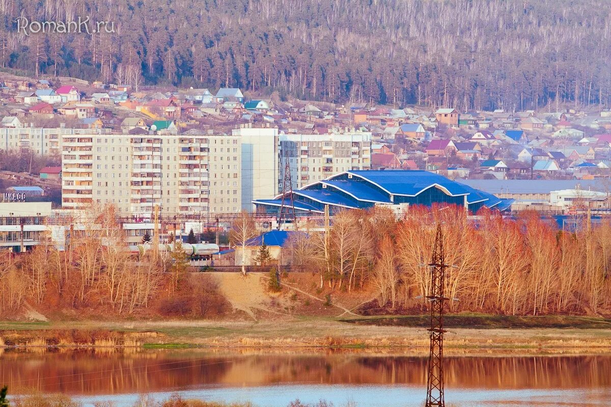
[{"label": "tall rusty lattice pylon standing in front of the river", "polygon": [[431,260],[431,292],[426,296],[431,303],[431,349],[428,356],[428,381],[426,384],[426,407],[445,406],[444,400],[444,279],[445,264],[444,234],[437,225],[433,259]]}]

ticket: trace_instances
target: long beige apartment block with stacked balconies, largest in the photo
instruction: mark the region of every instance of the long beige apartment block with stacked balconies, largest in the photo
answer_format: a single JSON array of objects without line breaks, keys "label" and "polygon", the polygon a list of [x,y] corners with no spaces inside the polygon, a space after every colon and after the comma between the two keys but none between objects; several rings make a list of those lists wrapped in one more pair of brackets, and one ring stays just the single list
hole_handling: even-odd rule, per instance
[{"label": "long beige apartment block with stacked balconies, largest in the photo", "polygon": [[104,134],[64,136],[62,207],[114,204],[123,215],[210,215],[241,208],[236,136]]}]

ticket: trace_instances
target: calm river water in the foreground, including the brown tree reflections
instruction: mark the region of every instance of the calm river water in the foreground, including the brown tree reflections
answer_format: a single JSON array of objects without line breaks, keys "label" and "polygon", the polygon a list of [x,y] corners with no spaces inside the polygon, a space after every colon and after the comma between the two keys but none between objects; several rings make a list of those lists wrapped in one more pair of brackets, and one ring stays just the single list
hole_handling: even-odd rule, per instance
[{"label": "calm river water in the foreground, including the brown tree reflections", "polygon": [[[61,392],[85,406],[131,406],[146,392],[284,407],[299,398],[341,407],[422,406],[426,358],[359,352],[5,351],[9,393]],[[446,359],[448,406],[609,406],[611,356],[455,356]]]}]

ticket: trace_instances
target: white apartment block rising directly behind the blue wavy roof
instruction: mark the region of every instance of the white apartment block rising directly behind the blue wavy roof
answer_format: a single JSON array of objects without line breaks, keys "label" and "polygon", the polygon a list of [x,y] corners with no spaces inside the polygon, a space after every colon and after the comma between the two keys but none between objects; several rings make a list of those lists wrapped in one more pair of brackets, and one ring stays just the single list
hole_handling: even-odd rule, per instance
[{"label": "white apartment block rising directly behind the blue wavy roof", "polygon": [[280,134],[280,188],[287,165],[293,189],[348,170],[371,169],[371,133]]}]

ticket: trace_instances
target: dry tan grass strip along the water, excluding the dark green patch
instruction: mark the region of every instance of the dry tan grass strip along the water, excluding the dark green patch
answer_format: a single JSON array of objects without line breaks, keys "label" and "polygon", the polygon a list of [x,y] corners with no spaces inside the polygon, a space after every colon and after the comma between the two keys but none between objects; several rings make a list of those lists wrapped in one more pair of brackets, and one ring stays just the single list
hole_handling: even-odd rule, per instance
[{"label": "dry tan grass strip along the water, excluding the dark green patch", "polygon": [[[9,326],[0,323],[0,329]],[[283,317],[273,320],[210,321],[164,320],[135,322],[79,322],[81,333],[69,322],[49,330],[0,331],[4,345],[57,347],[138,348],[142,344],[189,344],[210,348],[348,348],[371,352],[428,349],[424,328],[355,325],[328,318]],[[104,330],[101,330],[101,327]],[[611,330],[575,328],[469,329],[446,334],[448,350],[546,349],[611,351]]]}]

